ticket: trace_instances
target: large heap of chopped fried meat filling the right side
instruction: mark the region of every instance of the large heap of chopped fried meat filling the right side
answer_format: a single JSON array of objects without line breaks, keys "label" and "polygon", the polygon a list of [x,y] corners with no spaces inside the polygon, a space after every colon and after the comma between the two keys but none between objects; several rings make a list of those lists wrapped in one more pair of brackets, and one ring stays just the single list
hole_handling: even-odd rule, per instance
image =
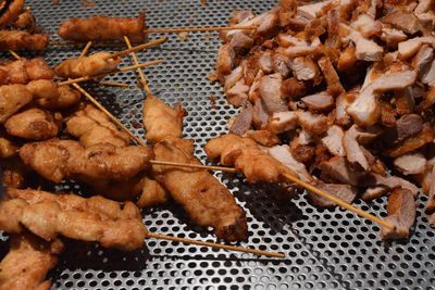
[{"label": "large heap of chopped fried meat filling the right side", "polygon": [[209,157],[243,169],[248,181],[278,180],[252,164],[264,162],[259,153],[246,157],[253,140],[348,202],[389,194],[396,232],[382,236],[407,238],[418,187],[435,215],[434,9],[425,0],[281,0],[260,15],[235,11],[231,25],[257,29],[221,33],[210,77],[240,112],[229,135],[208,143]]}]

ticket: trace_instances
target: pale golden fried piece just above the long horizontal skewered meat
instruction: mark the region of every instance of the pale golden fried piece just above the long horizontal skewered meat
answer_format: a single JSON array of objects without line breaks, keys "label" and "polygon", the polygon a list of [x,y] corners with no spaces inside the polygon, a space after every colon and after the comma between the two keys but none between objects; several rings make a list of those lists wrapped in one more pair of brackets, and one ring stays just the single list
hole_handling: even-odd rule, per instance
[{"label": "pale golden fried piece just above the long horizontal skewered meat", "polygon": [[110,143],[115,147],[129,144],[128,134],[121,131],[94,105],[87,104],[66,122],[66,131],[79,139],[80,143],[88,148],[98,143]]}]

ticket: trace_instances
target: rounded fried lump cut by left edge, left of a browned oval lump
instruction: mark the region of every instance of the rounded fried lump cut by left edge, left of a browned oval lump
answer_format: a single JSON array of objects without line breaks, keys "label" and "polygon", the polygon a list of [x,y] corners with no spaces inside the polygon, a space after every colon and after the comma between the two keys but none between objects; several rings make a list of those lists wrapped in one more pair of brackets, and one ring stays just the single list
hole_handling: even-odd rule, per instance
[{"label": "rounded fried lump cut by left edge, left of a browned oval lump", "polygon": [[0,86],[0,124],[32,101],[32,93],[23,85]]}]

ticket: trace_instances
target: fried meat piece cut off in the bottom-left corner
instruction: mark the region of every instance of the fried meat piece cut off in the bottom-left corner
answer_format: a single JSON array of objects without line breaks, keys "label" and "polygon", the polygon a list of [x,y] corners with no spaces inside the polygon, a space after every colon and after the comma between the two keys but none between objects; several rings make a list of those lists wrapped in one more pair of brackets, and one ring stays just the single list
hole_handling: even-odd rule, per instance
[{"label": "fried meat piece cut off in the bottom-left corner", "polygon": [[60,240],[46,242],[32,234],[11,235],[9,253],[0,262],[1,290],[50,289],[47,274],[63,251]]}]

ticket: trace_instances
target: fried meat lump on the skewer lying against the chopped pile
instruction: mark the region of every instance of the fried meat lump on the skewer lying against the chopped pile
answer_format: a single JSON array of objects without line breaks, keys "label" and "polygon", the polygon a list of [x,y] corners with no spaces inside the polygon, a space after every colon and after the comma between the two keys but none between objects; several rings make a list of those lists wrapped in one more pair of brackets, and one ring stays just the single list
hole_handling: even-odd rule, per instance
[{"label": "fried meat lump on the skewer lying against the chopped pile", "polygon": [[234,166],[243,172],[249,182],[277,182],[283,174],[297,176],[287,166],[262,151],[256,141],[237,135],[222,135],[210,140],[206,153],[211,160],[220,159],[220,163]]}]

